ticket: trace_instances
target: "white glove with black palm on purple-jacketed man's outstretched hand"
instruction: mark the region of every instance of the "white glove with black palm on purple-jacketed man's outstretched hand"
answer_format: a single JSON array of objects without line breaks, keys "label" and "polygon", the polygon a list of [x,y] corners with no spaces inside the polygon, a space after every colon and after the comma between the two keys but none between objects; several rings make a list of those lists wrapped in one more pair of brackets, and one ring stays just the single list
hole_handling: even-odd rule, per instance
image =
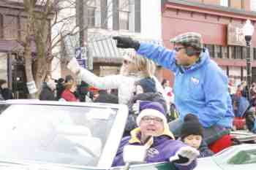
[{"label": "white glove with black palm on purple-jacketed man's outstretched hand", "polygon": [[187,166],[194,161],[200,152],[194,147],[181,147],[174,156],[169,158],[172,163],[177,163],[181,166]]}]

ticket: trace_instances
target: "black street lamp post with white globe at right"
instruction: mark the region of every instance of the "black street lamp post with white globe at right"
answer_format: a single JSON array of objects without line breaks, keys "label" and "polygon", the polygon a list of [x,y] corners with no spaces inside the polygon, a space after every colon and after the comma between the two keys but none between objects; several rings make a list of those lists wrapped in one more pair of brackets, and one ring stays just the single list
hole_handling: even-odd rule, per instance
[{"label": "black street lamp post with white globe at right", "polygon": [[252,84],[252,58],[251,58],[251,39],[255,31],[250,20],[246,20],[243,26],[244,39],[246,41],[246,72],[247,72],[247,98],[250,99],[249,88]]}]

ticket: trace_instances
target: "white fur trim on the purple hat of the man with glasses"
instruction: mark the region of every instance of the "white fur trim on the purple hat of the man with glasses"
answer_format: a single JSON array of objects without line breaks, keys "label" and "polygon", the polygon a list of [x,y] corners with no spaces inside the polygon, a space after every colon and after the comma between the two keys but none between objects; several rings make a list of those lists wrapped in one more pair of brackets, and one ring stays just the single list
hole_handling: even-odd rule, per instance
[{"label": "white fur trim on the purple hat of the man with glasses", "polygon": [[140,120],[144,116],[154,116],[154,117],[159,117],[162,119],[163,123],[167,123],[165,115],[163,115],[161,112],[159,112],[156,109],[143,109],[140,114],[138,115],[136,119],[136,123],[139,126],[140,125]]}]

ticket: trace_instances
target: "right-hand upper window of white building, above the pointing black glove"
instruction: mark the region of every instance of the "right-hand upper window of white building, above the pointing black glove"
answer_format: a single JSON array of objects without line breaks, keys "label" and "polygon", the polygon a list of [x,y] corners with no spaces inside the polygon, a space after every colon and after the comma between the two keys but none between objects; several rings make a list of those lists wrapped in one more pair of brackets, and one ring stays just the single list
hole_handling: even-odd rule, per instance
[{"label": "right-hand upper window of white building, above the pointing black glove", "polygon": [[129,0],[113,0],[113,30],[129,30]]}]

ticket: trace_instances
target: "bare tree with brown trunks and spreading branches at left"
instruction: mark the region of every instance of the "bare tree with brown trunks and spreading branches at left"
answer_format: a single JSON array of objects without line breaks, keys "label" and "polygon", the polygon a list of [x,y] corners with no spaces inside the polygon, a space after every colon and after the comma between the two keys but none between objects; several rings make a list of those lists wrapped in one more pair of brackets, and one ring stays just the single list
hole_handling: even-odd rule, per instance
[{"label": "bare tree with brown trunks and spreading branches at left", "polygon": [[[90,1],[85,0],[84,3],[89,4]],[[18,42],[24,47],[23,55],[30,97],[37,98],[45,76],[51,71],[51,61],[59,53],[53,52],[53,49],[60,46],[67,36],[86,30],[88,24],[78,28],[75,23],[75,0],[16,0],[15,2],[20,3],[26,13],[26,22],[23,23],[25,26],[18,30],[23,36]],[[123,6],[127,5],[126,3]],[[67,12],[70,14],[67,15]],[[63,13],[65,15],[62,15]],[[112,13],[108,12],[105,22],[111,15]],[[37,50],[35,57],[32,54],[34,46]]]}]

